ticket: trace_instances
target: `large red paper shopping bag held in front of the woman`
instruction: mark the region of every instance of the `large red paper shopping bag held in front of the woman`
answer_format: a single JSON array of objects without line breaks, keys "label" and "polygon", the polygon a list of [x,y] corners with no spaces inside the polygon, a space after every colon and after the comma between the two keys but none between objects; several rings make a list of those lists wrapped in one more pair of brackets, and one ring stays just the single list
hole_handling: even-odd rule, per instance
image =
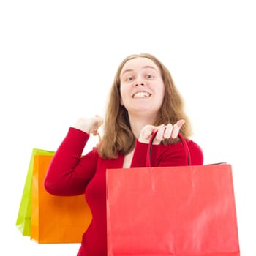
[{"label": "large red paper shopping bag held in front of the woman", "polygon": [[108,256],[240,255],[231,165],[107,170],[107,233]]}]

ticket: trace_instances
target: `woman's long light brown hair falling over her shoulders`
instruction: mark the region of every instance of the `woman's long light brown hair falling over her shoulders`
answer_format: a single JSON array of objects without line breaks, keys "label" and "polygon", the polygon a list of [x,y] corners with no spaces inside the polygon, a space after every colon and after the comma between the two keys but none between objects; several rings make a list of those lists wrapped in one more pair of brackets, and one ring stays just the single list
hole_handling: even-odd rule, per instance
[{"label": "woman's long light brown hair falling over her shoulders", "polygon": [[[120,104],[120,73],[127,61],[139,57],[154,61],[160,69],[162,80],[165,84],[165,97],[157,120],[153,125],[176,124],[178,120],[184,119],[185,124],[181,127],[180,133],[184,138],[189,138],[191,135],[189,118],[184,110],[184,101],[173,83],[169,70],[155,56],[149,53],[130,55],[119,65],[110,89],[105,114],[104,136],[98,146],[99,154],[103,158],[110,159],[116,158],[118,154],[128,154],[135,146],[136,138],[130,129],[127,110]],[[173,142],[174,140],[168,139],[162,141],[162,144],[166,145]]]}]

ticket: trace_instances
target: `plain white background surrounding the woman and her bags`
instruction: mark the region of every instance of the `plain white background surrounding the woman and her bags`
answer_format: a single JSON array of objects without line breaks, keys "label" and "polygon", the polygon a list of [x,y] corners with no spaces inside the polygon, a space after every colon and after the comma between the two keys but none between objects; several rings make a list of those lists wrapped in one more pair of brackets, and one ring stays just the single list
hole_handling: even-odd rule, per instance
[{"label": "plain white background surrounding the woman and her bags", "polygon": [[31,150],[56,150],[78,117],[104,113],[118,64],[141,52],[170,69],[205,163],[233,165],[241,255],[256,255],[253,2],[2,0],[0,255],[76,255],[15,227]]}]

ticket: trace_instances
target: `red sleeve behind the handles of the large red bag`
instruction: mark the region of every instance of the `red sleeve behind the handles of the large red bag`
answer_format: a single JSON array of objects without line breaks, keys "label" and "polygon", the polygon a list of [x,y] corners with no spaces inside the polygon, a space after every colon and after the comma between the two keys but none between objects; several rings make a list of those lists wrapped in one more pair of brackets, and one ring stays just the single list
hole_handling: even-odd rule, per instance
[{"label": "red sleeve behind the handles of the large red bag", "polygon": [[[203,151],[197,143],[187,140],[192,165],[203,165]],[[148,144],[136,142],[131,167],[145,167]],[[186,152],[181,142],[164,145],[153,145],[151,150],[151,166],[187,165]]]}]

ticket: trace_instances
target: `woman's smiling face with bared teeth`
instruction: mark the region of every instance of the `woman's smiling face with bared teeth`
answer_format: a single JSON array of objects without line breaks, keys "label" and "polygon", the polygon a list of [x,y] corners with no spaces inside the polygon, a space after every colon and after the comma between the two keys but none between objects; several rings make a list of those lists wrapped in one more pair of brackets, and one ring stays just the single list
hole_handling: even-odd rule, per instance
[{"label": "woman's smiling face with bared teeth", "polygon": [[127,61],[121,69],[120,80],[121,105],[129,114],[157,116],[165,86],[154,61],[142,57]]}]

